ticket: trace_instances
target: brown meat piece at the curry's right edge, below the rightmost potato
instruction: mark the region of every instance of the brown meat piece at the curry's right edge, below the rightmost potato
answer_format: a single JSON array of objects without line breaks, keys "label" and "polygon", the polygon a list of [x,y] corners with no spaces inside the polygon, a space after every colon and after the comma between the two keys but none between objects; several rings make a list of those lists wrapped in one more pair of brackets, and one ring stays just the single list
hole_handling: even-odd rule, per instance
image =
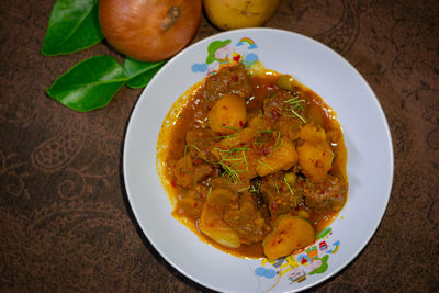
[{"label": "brown meat piece at the curry's right edge, below the rightmost potato", "polygon": [[345,205],[348,185],[335,176],[328,174],[324,183],[303,181],[305,204],[320,212],[337,212]]}]

